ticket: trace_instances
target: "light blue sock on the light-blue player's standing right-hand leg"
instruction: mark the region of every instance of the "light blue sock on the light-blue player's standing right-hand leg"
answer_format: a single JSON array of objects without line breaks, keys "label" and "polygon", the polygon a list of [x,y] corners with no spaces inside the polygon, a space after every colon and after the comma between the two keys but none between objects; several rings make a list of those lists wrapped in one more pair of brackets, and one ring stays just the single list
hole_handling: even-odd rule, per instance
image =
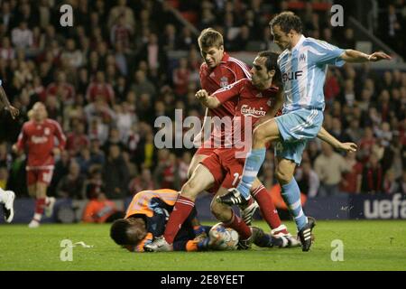
[{"label": "light blue sock on the light-blue player's standing right-hand leg", "polygon": [[291,182],[281,186],[281,196],[288,205],[289,211],[295,219],[296,226],[300,230],[307,224],[308,219],[301,208],[300,189],[295,178],[292,178]]}]

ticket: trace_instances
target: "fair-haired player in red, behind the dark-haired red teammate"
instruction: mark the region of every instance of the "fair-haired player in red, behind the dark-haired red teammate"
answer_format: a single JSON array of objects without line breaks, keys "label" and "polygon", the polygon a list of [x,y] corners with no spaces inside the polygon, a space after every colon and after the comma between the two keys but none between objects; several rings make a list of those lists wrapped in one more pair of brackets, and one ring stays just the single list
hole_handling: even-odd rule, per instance
[{"label": "fair-haired player in red, behind the dark-haired red teammate", "polygon": [[[198,37],[198,46],[200,48],[200,53],[204,59],[204,62],[200,66],[200,85],[201,88],[208,91],[211,95],[217,89],[223,89],[227,85],[234,83],[240,79],[251,79],[251,72],[248,66],[233,57],[230,57],[226,51],[224,51],[224,41],[221,33],[218,33],[212,28],[203,30]],[[235,107],[237,105],[238,98],[230,98],[222,103],[221,106],[208,108],[206,110],[206,117],[203,124],[203,129],[207,128],[208,118],[207,117],[218,117],[221,120],[225,120],[227,117],[231,121],[235,116]],[[274,103],[274,107],[281,106],[280,104]],[[278,108],[279,109],[279,108]],[[212,118],[210,118],[212,119]],[[211,128],[211,125],[209,126]],[[200,142],[203,139],[203,129],[202,134],[198,135],[197,141]],[[205,133],[206,135],[206,133]],[[198,163],[206,159],[210,154],[212,154],[216,149],[224,147],[225,131],[221,126],[213,126],[210,137],[208,140],[198,148],[196,154],[193,156],[192,161],[189,165],[188,177],[191,176],[192,172],[196,169]],[[211,192],[215,193],[218,187],[212,187]],[[262,198],[268,192],[266,191],[263,184],[257,179],[253,185],[252,192],[255,192],[258,198],[257,201],[263,201],[267,197]],[[267,202],[268,203],[268,202]],[[271,200],[272,203],[272,200]],[[261,205],[261,204],[260,204]],[[262,205],[263,210],[265,210],[264,204]],[[249,203],[247,206],[241,206],[241,215],[245,219],[246,223],[249,225],[251,219],[254,215],[254,211],[258,208],[256,202]],[[281,224],[281,219],[279,218],[277,210],[272,205],[266,208],[266,215],[269,216],[270,222],[268,222],[273,229],[273,232],[278,235],[289,236],[287,228]]]}]

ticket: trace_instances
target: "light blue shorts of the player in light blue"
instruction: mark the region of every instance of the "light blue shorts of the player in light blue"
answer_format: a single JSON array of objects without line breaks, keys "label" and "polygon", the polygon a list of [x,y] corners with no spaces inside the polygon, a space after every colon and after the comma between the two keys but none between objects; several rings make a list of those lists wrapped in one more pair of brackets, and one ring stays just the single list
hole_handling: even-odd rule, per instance
[{"label": "light blue shorts of the player in light blue", "polygon": [[323,125],[323,111],[301,108],[275,120],[281,135],[281,141],[275,144],[275,155],[299,165],[306,144],[318,135]]}]

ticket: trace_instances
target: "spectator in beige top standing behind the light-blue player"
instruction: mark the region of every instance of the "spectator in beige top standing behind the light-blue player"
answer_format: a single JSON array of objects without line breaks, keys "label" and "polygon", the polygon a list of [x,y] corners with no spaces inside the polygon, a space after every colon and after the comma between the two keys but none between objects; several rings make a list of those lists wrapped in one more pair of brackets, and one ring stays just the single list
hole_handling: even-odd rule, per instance
[{"label": "spectator in beige top standing behind the light-blue player", "polygon": [[321,144],[322,154],[318,155],[314,163],[314,170],[320,179],[318,196],[337,196],[341,174],[351,170],[344,158],[334,152],[330,144]]}]

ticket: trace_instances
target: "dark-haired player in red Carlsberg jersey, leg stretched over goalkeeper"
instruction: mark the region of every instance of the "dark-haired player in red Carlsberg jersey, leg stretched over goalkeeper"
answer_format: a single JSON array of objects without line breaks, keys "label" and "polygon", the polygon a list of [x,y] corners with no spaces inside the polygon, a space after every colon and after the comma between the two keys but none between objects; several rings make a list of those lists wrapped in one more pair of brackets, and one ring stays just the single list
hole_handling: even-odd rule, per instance
[{"label": "dark-haired player in red Carlsberg jersey, leg stretched over goalkeeper", "polygon": [[[253,80],[241,79],[234,84],[226,86],[224,89],[218,89],[210,100],[215,99],[217,101],[216,106],[209,106],[208,92],[206,90],[200,90],[197,93],[197,98],[207,107],[219,107],[227,100],[232,98],[237,99],[235,107],[235,119],[239,118],[240,121],[236,122],[236,126],[233,128],[232,135],[235,132],[241,132],[241,135],[245,135],[245,124],[248,124],[249,128],[254,126],[260,117],[263,117],[269,111],[273,116],[277,109],[272,107],[272,98],[276,98],[278,88],[275,88],[272,79],[275,74],[278,73],[276,60],[278,54],[269,51],[261,52],[254,60],[254,67],[251,70]],[[276,76],[278,77],[278,76]],[[280,76],[279,76],[280,77]],[[239,99],[239,100],[238,100]],[[249,131],[249,137],[251,137],[251,131]],[[237,145],[234,143],[235,137],[232,137],[232,148],[219,149],[218,151],[223,154],[231,154],[229,157],[235,158],[237,153]],[[241,140],[245,143],[245,139]],[[248,146],[249,147],[249,146]],[[209,157],[212,158],[213,154]],[[215,155],[216,157],[216,155]],[[243,161],[244,162],[244,161]],[[155,238],[151,244],[145,245],[147,251],[171,251],[173,249],[172,243],[176,237],[180,225],[188,218],[190,211],[195,206],[195,200],[201,191],[208,190],[213,187],[216,182],[230,182],[231,178],[235,177],[234,167],[228,166],[229,163],[216,163],[216,168],[206,166],[207,161],[202,161],[202,164],[198,164],[189,181],[181,189],[180,198],[176,201],[174,210],[171,213],[168,224],[165,228],[165,232],[161,238]],[[221,167],[220,172],[223,170],[230,170],[229,172],[223,172],[222,175],[217,175],[219,164],[224,164]],[[243,165],[239,166],[239,172],[242,172]],[[211,169],[216,170],[212,172]],[[214,174],[216,173],[216,175]],[[238,178],[236,178],[238,179]],[[226,185],[226,184],[225,184]],[[226,193],[226,189],[217,191],[216,196]],[[213,200],[216,200],[214,198]],[[256,238],[254,231],[249,228],[243,219],[235,215],[234,211],[217,201],[212,201],[210,209],[213,214],[222,221],[226,227],[234,228],[240,235],[240,247],[248,248],[249,244]],[[267,209],[267,208],[264,208]]]}]

